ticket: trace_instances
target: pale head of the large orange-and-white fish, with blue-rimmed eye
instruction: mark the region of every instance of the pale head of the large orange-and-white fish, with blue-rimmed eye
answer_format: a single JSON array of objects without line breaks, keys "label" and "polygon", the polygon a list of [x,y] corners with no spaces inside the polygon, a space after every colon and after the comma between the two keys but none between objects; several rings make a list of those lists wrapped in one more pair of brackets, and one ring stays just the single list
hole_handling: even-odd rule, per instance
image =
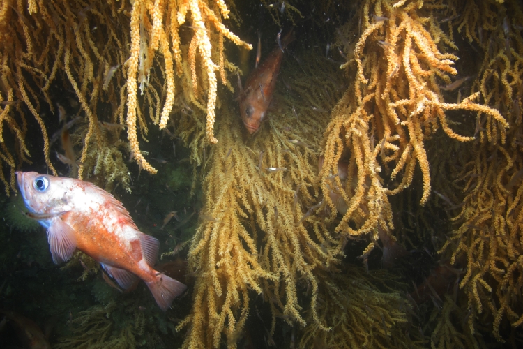
[{"label": "pale head of the large orange-and-white fish, with blue-rimmed eye", "polygon": [[72,179],[37,172],[16,172],[24,203],[33,213],[56,213],[70,209]]}]

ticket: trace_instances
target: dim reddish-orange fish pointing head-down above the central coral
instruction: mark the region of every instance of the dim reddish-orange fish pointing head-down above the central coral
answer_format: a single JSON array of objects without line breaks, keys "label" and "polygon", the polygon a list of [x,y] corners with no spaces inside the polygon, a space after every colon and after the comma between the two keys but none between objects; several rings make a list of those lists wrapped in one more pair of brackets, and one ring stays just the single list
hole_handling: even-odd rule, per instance
[{"label": "dim reddish-orange fish pointing head-down above the central coral", "polygon": [[[278,36],[280,38],[280,36]],[[240,86],[240,114],[247,131],[255,133],[261,121],[264,121],[268,107],[273,101],[276,78],[282,66],[283,49],[294,40],[293,31],[278,41],[276,47],[267,59],[249,75],[245,89]]]}]

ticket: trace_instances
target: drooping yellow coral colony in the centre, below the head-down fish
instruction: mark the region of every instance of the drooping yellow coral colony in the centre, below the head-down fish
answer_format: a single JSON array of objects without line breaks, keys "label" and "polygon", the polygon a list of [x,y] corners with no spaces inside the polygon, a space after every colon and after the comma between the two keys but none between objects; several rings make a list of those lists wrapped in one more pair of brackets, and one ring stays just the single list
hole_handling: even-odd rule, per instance
[{"label": "drooping yellow coral colony in the centre, below the head-down fish", "polygon": [[[249,315],[252,291],[270,306],[269,331],[273,333],[277,315],[289,323],[306,324],[298,289],[309,285],[311,316],[326,329],[315,310],[314,270],[333,267],[339,249],[312,213],[321,203],[316,181],[321,133],[317,130],[327,121],[319,116],[325,116],[335,103],[340,80],[328,66],[306,67],[294,73],[287,68],[285,78],[292,77],[288,81],[294,93],[282,99],[280,112],[250,142],[242,140],[243,125],[235,111],[220,115],[220,142],[209,158],[204,214],[189,255],[199,275],[194,305],[179,325],[179,329],[189,328],[188,348],[218,348],[222,333],[228,346],[236,347]],[[298,77],[301,69],[308,70]],[[326,76],[333,78],[325,82]],[[320,83],[325,87],[321,93],[314,88]],[[277,94],[286,95],[282,89]],[[324,112],[303,105],[303,96]]]}]

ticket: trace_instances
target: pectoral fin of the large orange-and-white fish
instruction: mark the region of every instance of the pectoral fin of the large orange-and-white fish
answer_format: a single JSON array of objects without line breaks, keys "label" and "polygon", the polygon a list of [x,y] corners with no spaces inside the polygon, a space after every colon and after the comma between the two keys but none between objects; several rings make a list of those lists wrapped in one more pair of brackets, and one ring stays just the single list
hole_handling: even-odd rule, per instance
[{"label": "pectoral fin of the large orange-and-white fish", "polygon": [[53,262],[59,264],[70,260],[76,249],[75,231],[67,223],[56,217],[47,229],[47,241]]}]

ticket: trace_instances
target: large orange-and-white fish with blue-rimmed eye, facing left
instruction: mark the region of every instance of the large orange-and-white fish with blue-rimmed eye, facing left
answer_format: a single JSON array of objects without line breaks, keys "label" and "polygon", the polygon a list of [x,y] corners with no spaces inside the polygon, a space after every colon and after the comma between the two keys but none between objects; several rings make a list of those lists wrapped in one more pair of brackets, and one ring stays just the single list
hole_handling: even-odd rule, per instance
[{"label": "large orange-and-white fish with blue-rimmed eye, facing left", "polygon": [[163,311],[187,288],[153,269],[156,238],[140,232],[129,212],[111,194],[79,179],[16,172],[26,207],[47,228],[55,263],[78,248],[100,262],[124,290],[142,279]]}]

